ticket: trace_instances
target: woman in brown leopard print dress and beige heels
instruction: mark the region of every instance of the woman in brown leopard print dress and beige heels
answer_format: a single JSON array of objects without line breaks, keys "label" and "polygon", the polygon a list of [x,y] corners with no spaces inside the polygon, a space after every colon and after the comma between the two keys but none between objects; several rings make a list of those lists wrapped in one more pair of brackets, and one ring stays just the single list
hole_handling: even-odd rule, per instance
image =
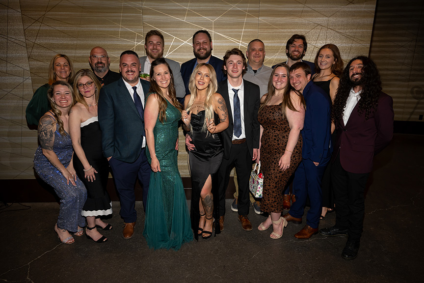
[{"label": "woman in brown leopard print dress and beige heels", "polygon": [[269,78],[268,93],[261,98],[258,114],[261,123],[260,160],[264,173],[261,210],[269,213],[258,229],[263,231],[272,225],[272,239],[281,238],[287,226],[287,221],[281,217],[283,191],[302,160],[300,130],[305,118],[304,105],[302,94],[291,89],[289,66],[278,64]]}]

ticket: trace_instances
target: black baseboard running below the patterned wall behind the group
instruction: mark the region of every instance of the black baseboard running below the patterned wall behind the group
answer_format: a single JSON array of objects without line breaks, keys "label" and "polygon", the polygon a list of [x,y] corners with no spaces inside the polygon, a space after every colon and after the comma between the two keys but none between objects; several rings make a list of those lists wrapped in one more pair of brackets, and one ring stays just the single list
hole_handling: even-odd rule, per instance
[{"label": "black baseboard running below the patterned wall behind the group", "polygon": [[[185,197],[191,199],[191,179],[183,177]],[[58,202],[59,198],[51,186],[40,178],[36,179],[1,179],[0,202]],[[135,184],[135,200],[143,200],[143,191],[138,182]],[[233,198],[236,191],[233,177],[230,177],[226,198]],[[118,201],[118,195],[113,183],[113,178],[107,181],[107,192],[112,201]]]}]

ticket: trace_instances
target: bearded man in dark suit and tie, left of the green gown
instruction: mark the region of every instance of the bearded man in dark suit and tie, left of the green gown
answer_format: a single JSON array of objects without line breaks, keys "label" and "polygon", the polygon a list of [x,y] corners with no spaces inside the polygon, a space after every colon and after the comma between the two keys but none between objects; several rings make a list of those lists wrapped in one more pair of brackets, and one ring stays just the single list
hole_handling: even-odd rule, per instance
[{"label": "bearded man in dark suit and tie, left of the green gown", "polygon": [[144,99],[150,83],[139,79],[140,61],[131,51],[121,54],[119,70],[122,79],[102,87],[98,115],[102,129],[103,153],[113,172],[121,201],[119,214],[124,220],[124,239],[134,233],[134,184],[138,177],[143,185],[143,206],[146,210],[150,165],[145,153]]}]

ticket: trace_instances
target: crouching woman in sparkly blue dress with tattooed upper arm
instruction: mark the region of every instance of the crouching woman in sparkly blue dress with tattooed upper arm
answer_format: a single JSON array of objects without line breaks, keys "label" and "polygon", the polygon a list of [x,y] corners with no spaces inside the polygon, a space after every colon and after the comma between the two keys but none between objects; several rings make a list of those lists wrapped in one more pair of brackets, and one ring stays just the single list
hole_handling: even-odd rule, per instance
[{"label": "crouching woman in sparkly blue dress with tattooed upper arm", "polygon": [[56,81],[47,95],[52,107],[38,124],[38,146],[34,157],[34,169],[38,176],[53,187],[60,198],[59,217],[54,226],[60,241],[75,242],[83,234],[85,219],[81,216],[87,191],[73,166],[71,137],[68,128],[68,112],[73,102],[72,87],[64,81]]}]

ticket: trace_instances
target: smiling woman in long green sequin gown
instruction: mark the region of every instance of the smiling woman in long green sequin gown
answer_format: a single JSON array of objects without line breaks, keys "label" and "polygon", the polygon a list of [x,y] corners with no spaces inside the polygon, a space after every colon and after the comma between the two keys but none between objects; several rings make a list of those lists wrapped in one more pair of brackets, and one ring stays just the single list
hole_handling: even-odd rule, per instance
[{"label": "smiling woman in long green sequin gown", "polygon": [[178,171],[181,105],[172,71],[163,58],[152,62],[144,111],[147,158],[152,168],[143,235],[150,248],[178,250],[193,240],[183,181]]}]

